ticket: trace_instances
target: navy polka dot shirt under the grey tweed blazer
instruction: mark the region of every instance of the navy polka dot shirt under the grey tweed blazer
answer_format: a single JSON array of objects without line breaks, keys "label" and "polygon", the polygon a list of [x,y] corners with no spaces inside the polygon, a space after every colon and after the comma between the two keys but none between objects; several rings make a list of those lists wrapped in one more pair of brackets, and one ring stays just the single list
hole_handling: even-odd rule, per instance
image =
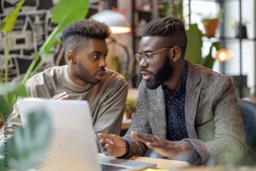
[{"label": "navy polka dot shirt under the grey tweed blazer", "polygon": [[[180,83],[175,94],[170,93],[163,84],[162,89],[165,92],[166,104],[166,120],[167,120],[167,139],[170,141],[179,141],[183,138],[188,138],[185,122],[185,94],[187,80],[187,63],[182,73]],[[200,155],[197,149],[188,141],[192,149],[192,157],[187,160],[190,164],[195,164]]]}]

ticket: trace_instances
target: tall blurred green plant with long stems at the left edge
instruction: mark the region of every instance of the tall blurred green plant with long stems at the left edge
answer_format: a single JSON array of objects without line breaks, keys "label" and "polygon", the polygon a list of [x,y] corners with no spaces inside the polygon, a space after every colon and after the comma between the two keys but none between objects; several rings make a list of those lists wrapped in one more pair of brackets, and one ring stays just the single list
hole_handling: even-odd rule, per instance
[{"label": "tall blurred green plant with long stems at the left edge", "polygon": [[[41,65],[44,63],[46,57],[49,54],[54,52],[51,51],[51,48],[54,45],[62,44],[63,42],[60,40],[61,30],[73,22],[73,20],[78,20],[86,17],[89,11],[89,0],[60,0],[53,8],[52,11],[52,22],[57,24],[56,28],[46,39],[44,44],[41,46],[40,51],[36,54],[32,54],[34,59],[32,60],[29,68],[27,69],[25,76],[22,82],[15,84],[11,89],[10,83],[8,83],[8,59],[10,52],[10,42],[11,42],[11,34],[13,27],[15,25],[16,18],[18,16],[18,12],[22,7],[25,0],[18,2],[15,5],[14,10],[12,10],[5,18],[2,25],[0,25],[0,29],[7,34],[8,43],[7,43],[7,53],[6,53],[6,68],[5,68],[5,82],[0,75],[0,117],[2,121],[4,120],[4,113],[8,113],[10,115],[13,111],[13,104],[16,102],[17,96],[27,96],[26,89],[24,84],[26,81],[32,77]],[[1,93],[2,92],[2,93]]]}]

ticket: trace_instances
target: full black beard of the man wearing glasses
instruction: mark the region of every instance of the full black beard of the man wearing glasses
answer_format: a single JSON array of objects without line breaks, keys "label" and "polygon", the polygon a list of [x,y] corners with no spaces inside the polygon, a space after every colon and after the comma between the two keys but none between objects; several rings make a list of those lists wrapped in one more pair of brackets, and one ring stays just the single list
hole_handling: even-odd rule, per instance
[{"label": "full black beard of the man wearing glasses", "polygon": [[[148,72],[144,69],[142,69],[142,71]],[[150,73],[154,75],[152,72]],[[151,83],[146,82],[146,87],[148,89],[153,90],[158,88],[163,82],[172,76],[172,66],[170,65],[170,59],[168,56],[165,56],[162,67],[157,70],[157,73],[154,76],[155,80],[153,80]]]}]

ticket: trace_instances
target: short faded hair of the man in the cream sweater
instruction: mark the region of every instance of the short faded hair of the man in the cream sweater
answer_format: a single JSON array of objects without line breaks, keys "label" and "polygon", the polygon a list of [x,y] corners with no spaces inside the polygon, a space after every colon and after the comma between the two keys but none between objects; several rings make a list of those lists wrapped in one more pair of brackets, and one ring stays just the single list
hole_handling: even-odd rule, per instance
[{"label": "short faded hair of the man in the cream sweater", "polygon": [[75,20],[61,31],[65,54],[70,50],[78,52],[88,45],[90,38],[106,39],[110,34],[110,27],[95,19]]}]

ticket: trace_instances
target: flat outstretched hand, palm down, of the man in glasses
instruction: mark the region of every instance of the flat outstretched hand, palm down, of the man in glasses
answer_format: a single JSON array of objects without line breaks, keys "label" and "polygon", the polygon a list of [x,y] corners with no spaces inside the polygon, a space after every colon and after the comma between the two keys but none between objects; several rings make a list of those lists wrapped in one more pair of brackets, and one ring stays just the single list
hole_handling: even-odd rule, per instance
[{"label": "flat outstretched hand, palm down, of the man in glasses", "polygon": [[169,141],[156,135],[138,134],[131,132],[132,139],[144,142],[147,147],[154,148],[157,153],[170,159],[190,159],[192,155],[191,146],[187,141]]}]

